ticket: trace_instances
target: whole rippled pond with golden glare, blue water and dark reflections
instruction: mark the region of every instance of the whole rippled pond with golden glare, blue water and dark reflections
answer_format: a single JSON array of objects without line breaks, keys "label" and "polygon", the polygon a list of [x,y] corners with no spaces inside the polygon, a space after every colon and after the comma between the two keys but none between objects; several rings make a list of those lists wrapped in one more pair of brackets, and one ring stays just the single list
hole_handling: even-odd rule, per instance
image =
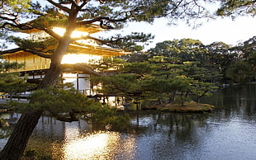
[{"label": "whole rippled pond with golden glare, blue water and dark reflections", "polygon": [[256,159],[256,84],[226,87],[201,102],[216,110],[135,111],[126,132],[41,117],[27,148],[55,159]]}]

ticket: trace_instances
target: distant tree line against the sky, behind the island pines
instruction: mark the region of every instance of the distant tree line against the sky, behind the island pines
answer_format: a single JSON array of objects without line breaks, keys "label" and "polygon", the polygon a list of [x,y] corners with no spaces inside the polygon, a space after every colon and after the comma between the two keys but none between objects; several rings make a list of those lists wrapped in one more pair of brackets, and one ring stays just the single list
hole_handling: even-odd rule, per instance
[{"label": "distant tree line against the sky, behind the island pines", "polygon": [[235,46],[223,42],[203,45],[200,40],[182,39],[160,42],[147,52],[130,54],[126,59],[133,63],[164,56],[180,62],[197,62],[199,67],[211,73],[220,73],[221,77],[214,79],[215,82],[244,83],[255,81],[255,52],[256,36]]}]

